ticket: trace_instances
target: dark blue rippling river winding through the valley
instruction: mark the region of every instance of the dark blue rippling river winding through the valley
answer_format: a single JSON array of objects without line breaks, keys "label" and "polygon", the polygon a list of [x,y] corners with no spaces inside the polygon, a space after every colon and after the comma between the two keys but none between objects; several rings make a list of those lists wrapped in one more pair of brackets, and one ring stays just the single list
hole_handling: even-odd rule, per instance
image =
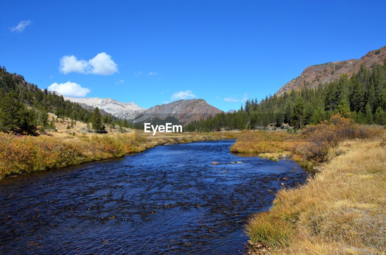
[{"label": "dark blue rippling river winding through the valley", "polygon": [[247,218],[308,173],[288,159],[232,154],[234,141],[0,180],[0,254],[241,254]]}]

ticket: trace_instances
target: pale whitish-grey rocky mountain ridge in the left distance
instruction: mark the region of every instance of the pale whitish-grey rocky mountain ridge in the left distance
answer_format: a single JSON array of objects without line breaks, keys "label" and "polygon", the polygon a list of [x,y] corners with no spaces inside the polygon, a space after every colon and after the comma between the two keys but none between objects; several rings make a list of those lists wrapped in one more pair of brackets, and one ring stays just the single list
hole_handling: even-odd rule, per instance
[{"label": "pale whitish-grey rocky mountain ridge in the left distance", "polygon": [[88,106],[94,108],[98,107],[120,119],[134,119],[136,116],[146,111],[146,108],[139,107],[134,104],[134,102],[124,103],[108,97],[106,97],[106,99],[100,97],[64,97],[64,99],[69,100],[70,102],[77,102],[86,109],[88,109]]}]

